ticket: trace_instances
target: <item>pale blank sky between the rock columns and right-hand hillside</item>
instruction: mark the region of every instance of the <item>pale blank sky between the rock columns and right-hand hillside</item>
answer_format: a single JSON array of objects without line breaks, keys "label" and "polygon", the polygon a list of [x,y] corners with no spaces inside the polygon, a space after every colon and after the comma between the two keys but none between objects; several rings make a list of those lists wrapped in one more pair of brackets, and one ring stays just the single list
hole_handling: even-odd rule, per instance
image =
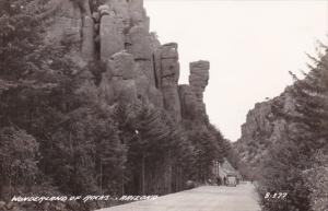
[{"label": "pale blank sky between the rock columns and right-hand hillside", "polygon": [[210,121],[231,141],[255,103],[308,71],[307,54],[328,45],[328,0],[144,0],[151,31],[178,44],[180,79],[189,62],[210,61],[204,103]]}]

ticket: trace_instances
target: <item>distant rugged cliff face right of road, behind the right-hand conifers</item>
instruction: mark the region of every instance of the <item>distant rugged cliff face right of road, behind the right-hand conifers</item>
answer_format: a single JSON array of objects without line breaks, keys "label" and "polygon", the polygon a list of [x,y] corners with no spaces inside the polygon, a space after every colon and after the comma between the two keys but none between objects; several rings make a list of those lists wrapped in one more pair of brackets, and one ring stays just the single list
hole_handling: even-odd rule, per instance
[{"label": "distant rugged cliff face right of road, behind the right-hand conifers", "polygon": [[248,112],[246,122],[242,126],[242,137],[235,143],[245,164],[257,167],[266,156],[269,145],[283,141],[289,131],[293,130],[294,125],[288,124],[278,110],[293,114],[294,106],[295,103],[286,89],[280,96],[257,103]]}]

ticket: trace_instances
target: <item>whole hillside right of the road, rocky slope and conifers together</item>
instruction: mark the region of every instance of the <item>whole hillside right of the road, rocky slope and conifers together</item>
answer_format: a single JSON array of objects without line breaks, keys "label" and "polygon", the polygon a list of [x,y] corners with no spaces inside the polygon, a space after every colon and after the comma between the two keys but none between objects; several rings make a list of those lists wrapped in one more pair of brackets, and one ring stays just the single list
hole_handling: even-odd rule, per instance
[{"label": "whole hillside right of the road, rocky slope and conifers together", "polygon": [[[328,209],[328,48],[278,97],[256,104],[235,143],[241,171],[258,180],[266,211]],[[268,197],[268,192],[271,197]],[[285,192],[285,200],[274,194]],[[266,197],[267,196],[267,197]]]}]

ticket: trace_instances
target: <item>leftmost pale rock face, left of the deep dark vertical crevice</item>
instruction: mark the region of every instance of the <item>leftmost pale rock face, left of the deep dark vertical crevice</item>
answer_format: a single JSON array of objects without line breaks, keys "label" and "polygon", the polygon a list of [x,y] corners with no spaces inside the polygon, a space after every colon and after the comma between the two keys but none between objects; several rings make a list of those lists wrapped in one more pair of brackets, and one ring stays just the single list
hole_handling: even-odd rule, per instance
[{"label": "leftmost pale rock face, left of the deep dark vertical crevice", "polygon": [[73,63],[84,68],[93,59],[93,21],[87,0],[49,1],[51,25],[47,28],[46,43],[70,46],[66,55]]}]

